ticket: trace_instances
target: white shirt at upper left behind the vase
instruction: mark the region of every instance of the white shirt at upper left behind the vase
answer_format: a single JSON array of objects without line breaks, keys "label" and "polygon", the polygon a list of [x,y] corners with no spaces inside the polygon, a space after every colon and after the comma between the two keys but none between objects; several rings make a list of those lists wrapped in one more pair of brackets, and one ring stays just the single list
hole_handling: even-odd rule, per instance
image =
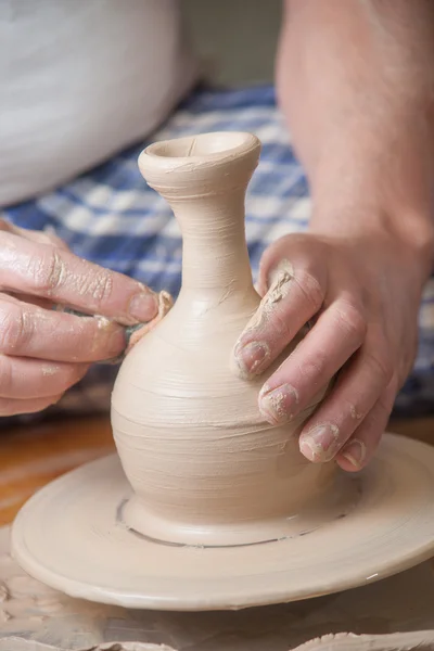
[{"label": "white shirt at upper left behind the vase", "polygon": [[195,75],[177,0],[0,0],[0,206],[144,138]]}]

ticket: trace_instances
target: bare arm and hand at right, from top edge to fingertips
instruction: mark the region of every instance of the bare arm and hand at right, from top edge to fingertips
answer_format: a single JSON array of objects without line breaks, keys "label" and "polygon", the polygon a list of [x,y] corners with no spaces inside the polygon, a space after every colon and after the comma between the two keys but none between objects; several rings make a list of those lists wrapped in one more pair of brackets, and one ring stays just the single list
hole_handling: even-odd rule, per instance
[{"label": "bare arm and hand at right, from top edge to fingertips", "polygon": [[264,369],[315,317],[260,408],[285,420],[341,371],[299,443],[347,470],[372,456],[410,370],[433,265],[433,27],[431,2],[285,1],[277,95],[309,181],[310,233],[267,252],[261,291],[281,260],[291,280],[242,342],[266,344]]}]

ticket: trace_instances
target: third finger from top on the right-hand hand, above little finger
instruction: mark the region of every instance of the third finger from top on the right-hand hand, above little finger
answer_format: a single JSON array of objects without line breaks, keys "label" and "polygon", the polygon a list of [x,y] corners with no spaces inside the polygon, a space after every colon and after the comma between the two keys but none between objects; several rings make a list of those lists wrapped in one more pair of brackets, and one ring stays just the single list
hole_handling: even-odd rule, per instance
[{"label": "third finger from top on the right-hand hand, above little finger", "polygon": [[331,461],[379,400],[392,373],[385,345],[379,337],[367,337],[330,396],[305,423],[299,435],[302,454],[317,463]]}]

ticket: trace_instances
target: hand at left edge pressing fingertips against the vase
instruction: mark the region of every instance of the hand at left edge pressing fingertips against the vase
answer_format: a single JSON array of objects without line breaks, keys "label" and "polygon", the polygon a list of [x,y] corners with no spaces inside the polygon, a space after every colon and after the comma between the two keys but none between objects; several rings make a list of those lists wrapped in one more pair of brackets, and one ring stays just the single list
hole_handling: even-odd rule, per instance
[{"label": "hand at left edge pressing fingertips against the vase", "polygon": [[156,311],[138,282],[76,257],[55,235],[0,220],[0,416],[54,404],[90,362],[124,349],[124,329],[111,319],[132,324]]}]

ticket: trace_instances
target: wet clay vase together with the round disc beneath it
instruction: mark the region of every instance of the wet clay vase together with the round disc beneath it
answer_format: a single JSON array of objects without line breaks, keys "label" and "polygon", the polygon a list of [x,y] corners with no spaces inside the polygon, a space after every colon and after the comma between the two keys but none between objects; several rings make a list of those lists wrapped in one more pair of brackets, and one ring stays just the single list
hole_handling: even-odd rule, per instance
[{"label": "wet clay vase together with the round disc beneath it", "polygon": [[250,133],[140,156],[181,227],[182,288],[120,367],[118,455],[55,480],[14,522],[15,559],[52,588],[131,609],[239,610],[376,582],[434,551],[434,448],[384,434],[359,473],[311,463],[297,433],[329,387],[285,425],[258,409],[303,333],[260,378],[231,367],[242,330],[291,291],[288,261],[263,302],[252,283],[244,199],[258,156]]}]

